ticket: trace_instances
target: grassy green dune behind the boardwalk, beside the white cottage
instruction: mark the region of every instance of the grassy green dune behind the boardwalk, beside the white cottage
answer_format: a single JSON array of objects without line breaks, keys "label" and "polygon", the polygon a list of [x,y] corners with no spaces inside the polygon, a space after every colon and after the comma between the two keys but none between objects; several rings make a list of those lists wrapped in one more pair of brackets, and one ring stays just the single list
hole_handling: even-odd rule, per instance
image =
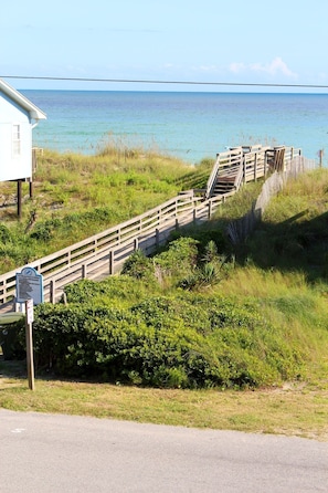
[{"label": "grassy green dune behind the boardwalk, beside the white cottage", "polygon": [[181,190],[204,187],[210,168],[209,160],[193,167],[115,146],[96,156],[45,150],[38,157],[32,199],[23,187],[21,221],[15,183],[0,183],[0,273],[146,212]]}]

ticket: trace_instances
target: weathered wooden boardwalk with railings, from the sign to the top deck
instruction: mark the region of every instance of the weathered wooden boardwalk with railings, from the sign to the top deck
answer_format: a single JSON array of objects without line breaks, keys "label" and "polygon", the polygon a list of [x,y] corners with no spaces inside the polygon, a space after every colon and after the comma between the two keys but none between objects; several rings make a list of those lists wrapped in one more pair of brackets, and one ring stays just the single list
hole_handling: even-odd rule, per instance
[{"label": "weathered wooden boardwalk with railings, from the sign to the top deck", "polygon": [[[292,148],[284,151],[284,162],[288,162],[294,155]],[[236,169],[234,179],[246,182],[265,176],[269,159],[274,162],[275,157],[275,153],[268,155],[264,148],[232,149],[218,155],[213,170],[216,176],[218,171],[228,174],[230,169]],[[78,280],[99,280],[115,274],[136,249],[150,254],[168,240],[172,230],[209,220],[215,209],[239,188],[207,197],[212,175],[204,190],[181,192],[144,214],[30,262],[29,265],[43,275],[44,301],[55,303],[62,296],[64,286]],[[0,275],[0,304],[14,300],[15,275],[24,266]]]}]

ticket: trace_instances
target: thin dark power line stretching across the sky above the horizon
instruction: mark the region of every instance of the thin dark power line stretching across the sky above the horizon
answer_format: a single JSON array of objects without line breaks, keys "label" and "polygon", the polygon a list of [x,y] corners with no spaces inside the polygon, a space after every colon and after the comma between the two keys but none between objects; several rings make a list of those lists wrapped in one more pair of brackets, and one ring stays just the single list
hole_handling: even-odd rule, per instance
[{"label": "thin dark power line stretching across the sky above the horizon", "polygon": [[328,85],[320,84],[279,84],[261,82],[201,82],[201,81],[160,81],[142,78],[94,78],[94,77],[52,77],[52,76],[31,76],[31,75],[0,75],[1,78],[24,78],[38,81],[67,81],[67,82],[115,82],[134,84],[182,84],[182,85],[216,85],[216,86],[248,86],[248,87],[307,87],[307,88],[328,88]]}]

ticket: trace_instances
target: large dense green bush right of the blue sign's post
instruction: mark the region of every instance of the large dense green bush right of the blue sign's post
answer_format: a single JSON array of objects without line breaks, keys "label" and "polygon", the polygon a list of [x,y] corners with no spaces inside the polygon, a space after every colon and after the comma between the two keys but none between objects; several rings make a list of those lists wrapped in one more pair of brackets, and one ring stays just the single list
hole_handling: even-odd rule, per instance
[{"label": "large dense green bush right of the blue sign's post", "polygon": [[[83,287],[87,298],[91,282]],[[85,301],[83,287],[68,296]],[[303,355],[282,331],[265,323],[254,305],[224,298],[161,295],[121,310],[43,304],[35,308],[33,325],[38,369],[53,368],[65,377],[243,388],[301,371]]]}]

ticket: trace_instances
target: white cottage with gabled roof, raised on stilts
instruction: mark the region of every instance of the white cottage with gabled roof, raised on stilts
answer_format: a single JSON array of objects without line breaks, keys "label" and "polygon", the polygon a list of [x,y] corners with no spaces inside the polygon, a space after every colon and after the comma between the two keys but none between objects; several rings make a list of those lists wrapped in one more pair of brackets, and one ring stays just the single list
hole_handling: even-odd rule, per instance
[{"label": "white cottage with gabled roof, raised on stilts", "polygon": [[32,129],[45,114],[0,80],[0,181],[32,179]]}]

